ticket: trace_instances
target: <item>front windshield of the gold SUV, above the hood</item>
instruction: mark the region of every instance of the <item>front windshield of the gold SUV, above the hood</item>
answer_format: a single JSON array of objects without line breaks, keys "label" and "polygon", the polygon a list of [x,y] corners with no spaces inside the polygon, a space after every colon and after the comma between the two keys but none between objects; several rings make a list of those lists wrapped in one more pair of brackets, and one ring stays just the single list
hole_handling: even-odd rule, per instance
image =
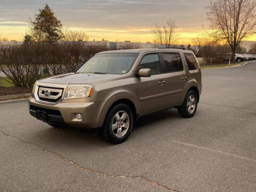
[{"label": "front windshield of the gold SUV, above the hood", "polygon": [[76,73],[126,74],[137,56],[138,53],[96,54],[86,61]]}]

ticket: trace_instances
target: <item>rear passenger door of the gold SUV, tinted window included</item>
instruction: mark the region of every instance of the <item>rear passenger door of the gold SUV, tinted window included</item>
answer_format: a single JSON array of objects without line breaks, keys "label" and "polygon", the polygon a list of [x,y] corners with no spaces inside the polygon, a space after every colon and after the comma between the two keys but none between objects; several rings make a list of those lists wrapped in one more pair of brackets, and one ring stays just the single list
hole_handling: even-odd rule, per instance
[{"label": "rear passenger door of the gold SUV, tinted window included", "polygon": [[166,105],[174,107],[183,102],[183,89],[187,80],[179,53],[161,53],[161,69],[165,73]]}]

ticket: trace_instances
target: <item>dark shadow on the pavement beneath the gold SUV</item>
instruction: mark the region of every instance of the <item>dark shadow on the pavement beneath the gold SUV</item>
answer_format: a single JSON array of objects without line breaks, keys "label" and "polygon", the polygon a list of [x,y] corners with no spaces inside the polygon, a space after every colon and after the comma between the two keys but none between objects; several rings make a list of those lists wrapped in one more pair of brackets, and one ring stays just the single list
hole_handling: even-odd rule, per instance
[{"label": "dark shadow on the pavement beneath the gold SUV", "polygon": [[[137,125],[133,128],[133,134],[142,134],[143,131],[149,132],[150,130],[154,130],[156,128],[156,124],[166,121],[167,119],[175,119],[180,118],[177,110],[169,109],[164,111],[159,111],[157,113],[149,114],[146,116],[142,116],[138,119]],[[150,126],[152,124],[152,126]],[[43,125],[43,126],[42,126]],[[42,146],[45,143],[47,145],[59,147],[67,147],[67,148],[84,148],[88,146],[93,147],[107,147],[113,146],[106,141],[104,141],[100,134],[95,134],[83,129],[77,129],[73,127],[60,127],[55,128],[50,125],[41,124],[41,128],[39,131],[31,135],[31,140],[36,140],[41,143]],[[145,128],[145,129],[144,129]],[[39,145],[39,144],[38,144]],[[122,144],[121,144],[122,145]]]}]

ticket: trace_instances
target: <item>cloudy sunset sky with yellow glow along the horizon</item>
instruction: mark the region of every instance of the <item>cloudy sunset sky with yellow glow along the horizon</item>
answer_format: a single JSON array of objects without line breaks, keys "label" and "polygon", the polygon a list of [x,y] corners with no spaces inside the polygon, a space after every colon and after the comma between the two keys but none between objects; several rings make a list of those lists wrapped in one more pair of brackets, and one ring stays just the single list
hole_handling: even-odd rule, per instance
[{"label": "cloudy sunset sky with yellow glow along the horizon", "polygon": [[179,44],[188,44],[190,38],[209,28],[209,0],[1,0],[0,38],[22,41],[29,18],[33,19],[44,3],[49,4],[63,28],[83,30],[89,40],[153,42],[155,23],[175,19]]}]

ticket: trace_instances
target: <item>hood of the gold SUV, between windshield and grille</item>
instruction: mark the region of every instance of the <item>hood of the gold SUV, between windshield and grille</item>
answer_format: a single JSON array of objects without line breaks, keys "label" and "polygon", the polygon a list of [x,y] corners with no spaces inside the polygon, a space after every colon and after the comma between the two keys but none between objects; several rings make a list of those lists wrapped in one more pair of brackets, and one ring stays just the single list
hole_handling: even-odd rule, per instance
[{"label": "hood of the gold SUV, between windshield and grille", "polygon": [[116,74],[69,73],[40,79],[39,82],[54,84],[93,84],[112,81],[120,76]]}]

